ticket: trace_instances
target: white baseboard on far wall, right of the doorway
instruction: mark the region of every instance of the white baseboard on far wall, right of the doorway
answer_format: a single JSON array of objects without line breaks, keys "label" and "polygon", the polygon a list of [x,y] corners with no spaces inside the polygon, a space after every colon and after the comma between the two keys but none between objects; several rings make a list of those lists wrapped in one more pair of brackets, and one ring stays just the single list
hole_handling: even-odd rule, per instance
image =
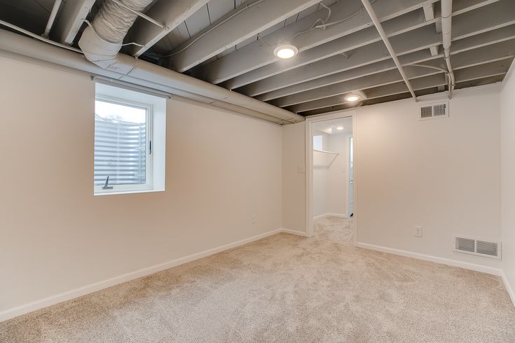
[{"label": "white baseboard on far wall, right of the doorway", "polygon": [[502,276],[502,274],[503,274],[502,269],[500,269],[500,268],[487,267],[485,265],[476,265],[475,263],[451,260],[450,258],[439,258],[437,256],[425,255],[423,253],[413,253],[411,251],[387,248],[385,246],[376,246],[373,244],[361,243],[359,241],[356,243],[356,246],[359,248],[381,251],[383,253],[392,253],[394,255],[401,255],[401,256],[406,256],[409,258],[417,258],[418,260],[425,260],[425,261],[440,263],[441,265],[452,265],[453,267],[471,269],[471,270],[475,270],[476,272],[483,272],[483,273],[493,274],[493,275],[497,275],[497,276]]}]

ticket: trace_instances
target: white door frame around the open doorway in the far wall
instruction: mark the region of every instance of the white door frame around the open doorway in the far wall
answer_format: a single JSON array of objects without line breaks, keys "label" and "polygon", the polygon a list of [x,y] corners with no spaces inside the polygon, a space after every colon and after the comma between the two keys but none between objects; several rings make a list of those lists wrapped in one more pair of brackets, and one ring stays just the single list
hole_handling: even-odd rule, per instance
[{"label": "white door frame around the open doorway in the far wall", "polygon": [[357,178],[357,166],[358,166],[358,135],[357,135],[357,118],[356,110],[347,110],[334,113],[324,114],[322,116],[309,116],[305,119],[305,161],[306,161],[306,178],[305,178],[305,224],[306,224],[306,235],[313,237],[313,123],[321,122],[324,120],[339,119],[339,118],[352,118],[352,139],[353,139],[353,151],[354,151],[354,220],[352,221],[352,244],[357,243],[357,228],[358,228],[358,206],[357,206],[357,190],[358,190],[358,178]]}]

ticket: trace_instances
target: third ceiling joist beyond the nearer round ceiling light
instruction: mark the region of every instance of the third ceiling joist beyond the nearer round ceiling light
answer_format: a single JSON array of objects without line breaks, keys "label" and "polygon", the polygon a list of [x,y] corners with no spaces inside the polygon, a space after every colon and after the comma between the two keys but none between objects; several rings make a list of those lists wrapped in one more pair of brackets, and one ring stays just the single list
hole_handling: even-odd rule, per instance
[{"label": "third ceiling joist beyond the nearer round ceiling light", "polygon": [[[460,52],[472,50],[475,48],[481,48],[483,46],[488,46],[495,43],[500,43],[502,41],[508,41],[514,38],[515,25],[503,27],[501,29],[495,29],[493,31],[488,31],[477,36],[462,38],[458,41],[453,42],[453,52],[451,52],[451,55],[455,55]],[[442,56],[443,55],[432,56],[430,55],[428,50],[423,49],[417,52],[411,52],[407,55],[401,55],[399,59],[401,60],[403,65],[408,65],[430,61],[432,59],[439,58]],[[352,80],[353,78],[367,76],[372,73],[388,71],[390,69],[395,69],[395,64],[391,59],[387,59],[381,62],[366,64],[365,66],[360,66],[355,69],[349,69],[347,71],[334,73],[329,76],[325,76],[324,78],[316,78],[305,83],[300,83],[290,87],[281,88],[279,90],[274,90],[272,92],[267,92],[265,94],[257,96],[256,99],[259,99],[261,101],[269,101],[272,99],[287,97],[291,94],[313,90],[318,87],[324,87],[345,80]]]}]

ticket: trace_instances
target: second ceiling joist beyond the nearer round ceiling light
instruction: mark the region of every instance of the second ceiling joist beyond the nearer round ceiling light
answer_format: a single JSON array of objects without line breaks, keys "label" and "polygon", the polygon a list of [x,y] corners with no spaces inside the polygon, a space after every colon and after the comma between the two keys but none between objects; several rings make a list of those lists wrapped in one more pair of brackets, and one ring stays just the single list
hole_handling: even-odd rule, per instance
[{"label": "second ceiling joist beyond the nearer round ceiling light", "polygon": [[[470,22],[468,16],[463,17],[463,15],[467,15],[468,13],[458,15],[456,18],[453,18],[453,41],[477,34],[482,34],[499,27],[505,27],[514,24],[515,15],[513,15],[513,13],[515,12],[506,14],[503,11],[511,7],[515,9],[515,1],[511,4],[504,4],[507,4],[507,6],[490,8],[490,6],[494,6],[494,4],[488,6],[487,8],[481,8],[477,10],[479,13],[488,13],[489,15],[495,16],[492,19],[489,17],[488,20]],[[476,10],[474,10],[474,12],[476,12]],[[476,13],[474,13],[474,16],[475,14]],[[472,31],[469,31],[468,29],[472,29]],[[430,30],[430,27],[423,27],[417,30],[409,31],[406,34],[394,36],[391,38],[391,41],[394,50],[397,52],[397,55],[404,55],[408,52],[413,52],[416,50],[429,48],[429,46],[432,45],[441,44],[441,35],[437,34],[434,30]],[[245,87],[241,87],[238,92],[242,92],[243,94],[254,97],[259,94],[272,92],[273,90],[290,87],[291,85],[296,85],[298,83],[305,83],[315,78],[322,78],[324,76],[339,73],[341,71],[352,69],[357,66],[362,66],[365,64],[362,62],[363,59],[367,61],[366,64],[378,62],[378,60],[381,59],[386,59],[381,57],[380,54],[382,52],[381,50],[378,50],[380,48],[376,47],[376,50],[370,48],[371,46],[373,45],[365,45],[364,47],[355,50],[354,55],[350,55],[350,61],[341,55],[336,55],[322,61],[318,61],[306,66],[301,66],[300,68],[292,69],[270,78],[251,83]],[[366,53],[363,52],[364,50],[366,50]]]}]

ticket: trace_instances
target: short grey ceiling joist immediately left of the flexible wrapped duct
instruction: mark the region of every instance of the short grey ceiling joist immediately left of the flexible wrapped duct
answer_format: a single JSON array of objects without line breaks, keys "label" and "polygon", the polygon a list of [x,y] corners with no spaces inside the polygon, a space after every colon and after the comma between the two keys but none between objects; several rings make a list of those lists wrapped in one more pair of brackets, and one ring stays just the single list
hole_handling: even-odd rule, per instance
[{"label": "short grey ceiling joist immediately left of the flexible wrapped duct", "polygon": [[94,3],[95,0],[66,1],[52,30],[53,39],[67,45],[74,43],[75,36]]}]

